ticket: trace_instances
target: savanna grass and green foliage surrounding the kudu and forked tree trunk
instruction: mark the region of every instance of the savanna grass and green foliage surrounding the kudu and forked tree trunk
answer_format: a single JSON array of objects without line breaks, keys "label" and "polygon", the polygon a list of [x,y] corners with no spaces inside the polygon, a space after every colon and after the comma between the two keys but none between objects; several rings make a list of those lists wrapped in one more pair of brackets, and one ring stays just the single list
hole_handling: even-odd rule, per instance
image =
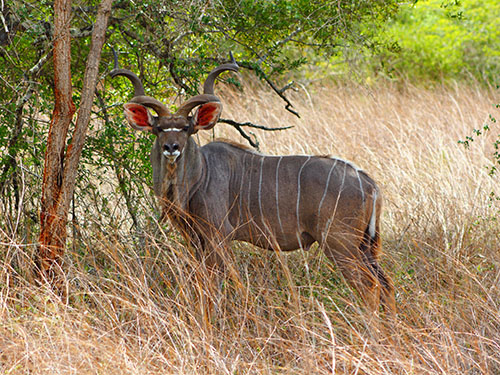
[{"label": "savanna grass and green foliage surrounding the kudu and forked tree trunk", "polygon": [[[71,8],[76,108],[98,5]],[[58,260],[62,291],[37,270],[54,9],[1,7],[2,373],[500,372],[496,1],[113,2]],[[131,87],[107,76],[111,47],[172,108],[232,51],[241,73],[216,92],[236,124],[219,123],[199,143],[333,154],[374,177],[395,321],[381,332],[368,324],[317,247],[283,254],[235,243],[236,272],[214,295],[192,249],[158,222],[152,138],[123,121]]]}]

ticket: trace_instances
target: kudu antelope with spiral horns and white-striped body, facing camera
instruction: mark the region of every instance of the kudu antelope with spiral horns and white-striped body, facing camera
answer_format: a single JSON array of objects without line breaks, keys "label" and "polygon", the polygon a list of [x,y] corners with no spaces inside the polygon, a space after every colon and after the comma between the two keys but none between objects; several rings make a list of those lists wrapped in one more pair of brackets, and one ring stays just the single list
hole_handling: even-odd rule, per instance
[{"label": "kudu antelope with spiral horns and white-striped body, facing camera", "polygon": [[220,249],[230,240],[278,250],[308,249],[317,241],[372,311],[382,302],[392,314],[392,282],[377,262],[381,194],[365,172],[324,156],[267,156],[222,141],[196,144],[192,135],[219,119],[214,82],[227,70],[238,70],[234,60],[212,70],[204,93],[175,113],[145,96],[131,71],[111,72],[134,86],[134,97],[124,104],[130,126],[156,136],[150,159],[162,215],[215,268],[222,267]]}]

